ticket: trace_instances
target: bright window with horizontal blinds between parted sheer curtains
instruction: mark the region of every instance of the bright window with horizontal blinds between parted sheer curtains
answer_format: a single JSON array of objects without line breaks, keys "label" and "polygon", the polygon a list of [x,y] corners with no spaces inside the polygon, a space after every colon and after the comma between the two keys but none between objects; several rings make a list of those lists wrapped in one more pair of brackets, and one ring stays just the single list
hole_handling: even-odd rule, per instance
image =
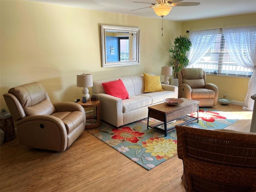
[{"label": "bright window with horizontal blinds between parted sheer curtains", "polygon": [[231,58],[222,31],[217,35],[210,49],[197,64],[188,68],[203,68],[206,74],[225,76],[252,76],[252,70],[239,66]]}]

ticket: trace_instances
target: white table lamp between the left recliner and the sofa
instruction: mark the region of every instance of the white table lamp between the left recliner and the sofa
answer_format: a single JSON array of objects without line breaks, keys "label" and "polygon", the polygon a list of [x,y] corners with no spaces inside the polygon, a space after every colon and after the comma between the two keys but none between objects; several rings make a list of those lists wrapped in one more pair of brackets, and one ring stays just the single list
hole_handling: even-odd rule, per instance
[{"label": "white table lamp between the left recliner and the sofa", "polygon": [[85,97],[86,101],[90,100],[90,94],[87,87],[92,87],[92,74],[78,74],[76,75],[76,86],[83,87],[82,98]]}]

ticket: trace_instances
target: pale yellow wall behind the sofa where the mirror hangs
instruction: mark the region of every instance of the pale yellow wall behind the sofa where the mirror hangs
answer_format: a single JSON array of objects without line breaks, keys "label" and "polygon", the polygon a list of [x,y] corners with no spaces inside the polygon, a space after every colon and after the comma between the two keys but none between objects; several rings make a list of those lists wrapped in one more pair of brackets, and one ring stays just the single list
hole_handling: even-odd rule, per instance
[{"label": "pale yellow wall behind the sofa where the mirror hangs", "polygon": [[[74,101],[82,88],[76,74],[93,80],[155,73],[169,62],[181,22],[70,8],[40,2],[1,0],[0,108],[13,86],[42,82],[52,102]],[[140,28],[140,65],[101,67],[100,25]],[[163,79],[163,76],[161,76]],[[91,88],[89,89],[91,92]]]}]

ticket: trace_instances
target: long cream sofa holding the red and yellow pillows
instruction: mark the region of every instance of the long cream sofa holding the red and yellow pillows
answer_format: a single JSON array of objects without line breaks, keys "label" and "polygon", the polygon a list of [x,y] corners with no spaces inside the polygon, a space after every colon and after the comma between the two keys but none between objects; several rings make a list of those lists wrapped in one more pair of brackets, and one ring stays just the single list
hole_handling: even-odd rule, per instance
[{"label": "long cream sofa holding the red and yellow pillows", "polygon": [[[121,79],[129,99],[120,99],[105,93],[102,83]],[[178,87],[161,84],[163,91],[144,93],[144,75],[126,76],[93,83],[92,95],[100,100],[101,120],[120,127],[148,116],[148,106],[163,102],[164,98],[178,98]]]}]

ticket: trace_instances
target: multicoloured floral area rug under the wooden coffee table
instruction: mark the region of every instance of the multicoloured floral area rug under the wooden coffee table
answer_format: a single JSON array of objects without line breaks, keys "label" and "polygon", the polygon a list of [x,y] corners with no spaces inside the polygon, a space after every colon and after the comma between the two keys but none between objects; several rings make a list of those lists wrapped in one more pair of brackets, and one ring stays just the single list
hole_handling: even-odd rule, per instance
[{"label": "multicoloured floral area rug under the wooden coffee table", "polygon": [[[196,113],[190,114],[195,116]],[[236,120],[228,119],[227,112],[216,112],[208,108],[200,108],[199,122],[187,126],[203,129],[223,129]],[[150,118],[149,124],[158,120]],[[152,128],[147,129],[147,118],[115,128],[102,122],[98,128],[87,130],[90,134],[108,144],[118,152],[136,162],[146,170],[150,170],[162,162],[177,155],[176,130],[163,132]]]}]

